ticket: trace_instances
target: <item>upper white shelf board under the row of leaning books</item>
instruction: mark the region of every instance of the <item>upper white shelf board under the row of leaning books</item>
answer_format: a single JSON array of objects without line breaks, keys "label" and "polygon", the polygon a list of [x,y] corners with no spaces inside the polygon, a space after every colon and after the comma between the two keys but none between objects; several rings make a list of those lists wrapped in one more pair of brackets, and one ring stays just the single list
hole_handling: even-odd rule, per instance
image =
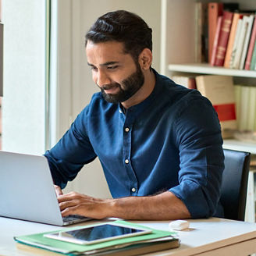
[{"label": "upper white shelf board under the row of leaning books", "polygon": [[201,73],[210,75],[223,76],[242,76],[255,77],[256,71],[244,69],[226,69],[219,66],[211,66],[208,63],[193,63],[193,64],[169,64],[169,71],[187,72],[187,73]]}]

